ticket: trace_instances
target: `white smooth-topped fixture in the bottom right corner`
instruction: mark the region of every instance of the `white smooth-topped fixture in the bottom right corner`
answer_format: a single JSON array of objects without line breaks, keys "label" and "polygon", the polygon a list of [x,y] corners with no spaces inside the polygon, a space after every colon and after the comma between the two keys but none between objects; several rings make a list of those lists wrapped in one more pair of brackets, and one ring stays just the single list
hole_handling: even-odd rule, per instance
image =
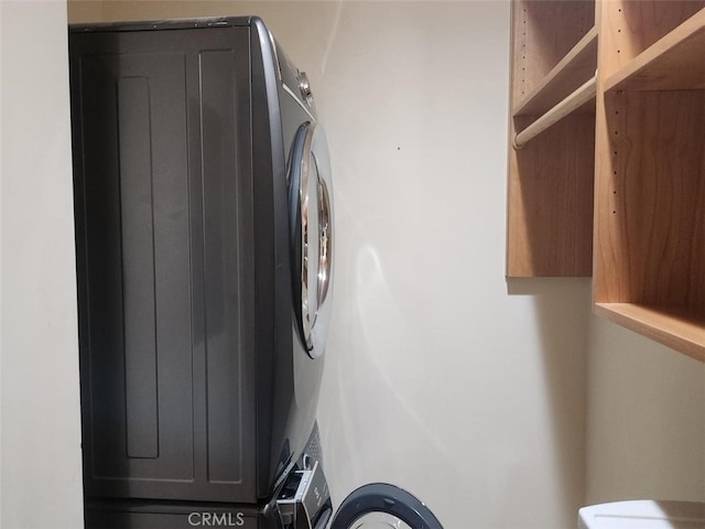
[{"label": "white smooth-topped fixture in the bottom right corner", "polygon": [[705,529],[705,504],[637,499],[590,505],[578,511],[578,529]]}]

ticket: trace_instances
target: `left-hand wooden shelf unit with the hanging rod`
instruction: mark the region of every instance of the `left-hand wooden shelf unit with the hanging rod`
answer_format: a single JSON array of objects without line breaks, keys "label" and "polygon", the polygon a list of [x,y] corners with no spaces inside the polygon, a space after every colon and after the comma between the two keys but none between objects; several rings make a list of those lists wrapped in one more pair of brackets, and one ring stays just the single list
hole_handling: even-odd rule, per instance
[{"label": "left-hand wooden shelf unit with the hanging rod", "polygon": [[595,0],[514,0],[512,28],[506,273],[589,277],[595,97],[582,95],[595,85],[581,88],[597,64]]}]

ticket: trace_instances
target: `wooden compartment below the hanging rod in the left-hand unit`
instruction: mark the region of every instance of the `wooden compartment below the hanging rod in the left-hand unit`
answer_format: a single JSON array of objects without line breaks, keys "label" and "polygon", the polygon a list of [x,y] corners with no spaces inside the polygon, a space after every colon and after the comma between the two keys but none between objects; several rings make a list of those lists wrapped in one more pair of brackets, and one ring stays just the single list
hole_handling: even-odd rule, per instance
[{"label": "wooden compartment below the hanging rod in the left-hand unit", "polygon": [[592,274],[594,144],[595,117],[574,114],[509,147],[507,277]]}]

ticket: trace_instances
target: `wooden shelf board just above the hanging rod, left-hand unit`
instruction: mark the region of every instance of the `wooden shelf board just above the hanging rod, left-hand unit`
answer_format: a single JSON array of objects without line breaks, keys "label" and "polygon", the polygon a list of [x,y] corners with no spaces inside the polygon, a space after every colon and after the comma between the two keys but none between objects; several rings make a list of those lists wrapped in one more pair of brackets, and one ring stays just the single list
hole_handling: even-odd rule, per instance
[{"label": "wooden shelf board just above the hanging rod, left-hand unit", "polygon": [[[539,116],[546,112],[578,86],[589,79],[597,68],[597,29],[593,26],[556,64],[542,83],[527,94],[513,108],[513,116]],[[584,107],[593,108],[593,107]]]}]

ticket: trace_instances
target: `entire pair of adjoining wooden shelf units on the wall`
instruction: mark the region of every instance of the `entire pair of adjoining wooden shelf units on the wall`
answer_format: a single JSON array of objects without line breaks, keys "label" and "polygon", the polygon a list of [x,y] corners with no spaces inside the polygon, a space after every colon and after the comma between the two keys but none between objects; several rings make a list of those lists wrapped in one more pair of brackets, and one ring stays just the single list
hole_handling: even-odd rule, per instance
[{"label": "entire pair of adjoining wooden shelf units on the wall", "polygon": [[507,276],[592,274],[597,314],[705,361],[705,0],[514,0],[512,28]]}]

